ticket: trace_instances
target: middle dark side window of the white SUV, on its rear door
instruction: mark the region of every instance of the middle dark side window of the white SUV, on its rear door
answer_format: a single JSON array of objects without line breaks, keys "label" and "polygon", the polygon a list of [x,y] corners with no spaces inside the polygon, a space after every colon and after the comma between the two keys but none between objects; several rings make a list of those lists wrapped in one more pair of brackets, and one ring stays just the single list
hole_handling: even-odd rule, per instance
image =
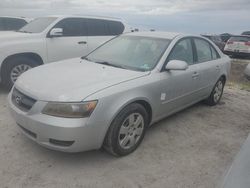
[{"label": "middle dark side window of the white SUV, on its rear door", "polygon": [[88,20],[89,36],[109,35],[108,25],[106,20],[99,20],[99,19],[87,19],[87,20]]}]

